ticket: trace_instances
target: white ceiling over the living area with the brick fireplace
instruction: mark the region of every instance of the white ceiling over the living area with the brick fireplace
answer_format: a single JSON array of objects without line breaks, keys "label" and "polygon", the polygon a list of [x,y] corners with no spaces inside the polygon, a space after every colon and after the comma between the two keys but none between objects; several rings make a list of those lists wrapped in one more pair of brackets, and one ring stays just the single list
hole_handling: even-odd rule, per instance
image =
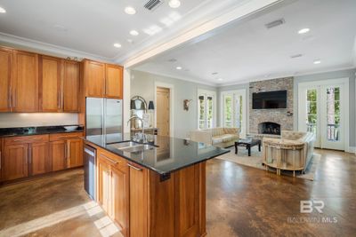
[{"label": "white ceiling over the living area with the brick fireplace", "polygon": [[[355,12],[355,0],[292,1],[216,29],[134,69],[200,83],[232,84],[354,67]],[[280,18],[286,20],[284,25],[265,28]],[[298,35],[301,28],[311,31]],[[303,56],[291,59],[295,54]],[[314,65],[316,59],[321,63]]]}]

